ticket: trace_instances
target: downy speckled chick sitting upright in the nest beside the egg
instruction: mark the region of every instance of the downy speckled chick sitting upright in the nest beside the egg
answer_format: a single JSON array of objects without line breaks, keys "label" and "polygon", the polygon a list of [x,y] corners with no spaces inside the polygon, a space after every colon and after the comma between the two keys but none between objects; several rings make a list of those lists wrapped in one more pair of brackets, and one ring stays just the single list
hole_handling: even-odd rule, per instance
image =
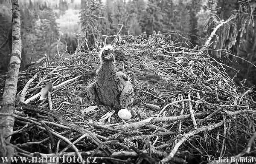
[{"label": "downy speckled chick sitting upright in the nest beside the egg", "polygon": [[[113,46],[103,47],[99,59],[100,65],[96,71],[96,81],[87,87],[89,99],[96,105],[108,105],[118,110],[127,108],[134,101],[134,88],[126,74],[121,71],[116,72]],[[113,113],[114,111],[105,119],[110,121]]]}]

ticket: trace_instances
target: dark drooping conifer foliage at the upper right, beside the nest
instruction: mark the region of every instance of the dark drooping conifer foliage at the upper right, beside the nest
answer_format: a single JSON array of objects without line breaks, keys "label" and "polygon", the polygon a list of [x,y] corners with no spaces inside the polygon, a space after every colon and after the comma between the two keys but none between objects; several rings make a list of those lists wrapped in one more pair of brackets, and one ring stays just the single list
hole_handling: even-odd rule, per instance
[{"label": "dark drooping conifer foliage at the upper right, beside the nest", "polygon": [[235,68],[227,68],[227,71],[237,83],[244,81],[247,86],[256,85],[256,2],[218,0],[215,7],[221,7],[221,10],[217,10],[209,18],[207,36],[221,20],[227,20],[231,14],[235,14],[236,19],[217,30],[212,48],[218,51],[211,51],[212,57]]}]

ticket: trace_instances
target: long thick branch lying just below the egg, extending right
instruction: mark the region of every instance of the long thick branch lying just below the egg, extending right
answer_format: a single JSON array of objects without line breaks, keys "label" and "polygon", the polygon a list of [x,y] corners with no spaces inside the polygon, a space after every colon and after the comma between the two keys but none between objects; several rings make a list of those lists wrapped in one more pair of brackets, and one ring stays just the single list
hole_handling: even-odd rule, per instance
[{"label": "long thick branch lying just below the egg, extending right", "polygon": [[[201,116],[206,116],[208,113],[202,112],[202,113],[195,113],[195,117],[201,117]],[[122,129],[122,130],[128,130],[128,129],[138,129],[140,127],[143,127],[148,124],[152,124],[154,122],[172,122],[172,121],[177,121],[177,120],[182,120],[182,119],[187,119],[191,117],[190,114],[187,115],[182,115],[182,116],[169,116],[169,117],[150,117],[148,119],[139,121],[139,122],[134,122],[131,124],[122,124],[122,125],[117,125],[114,126],[115,129]]]}]

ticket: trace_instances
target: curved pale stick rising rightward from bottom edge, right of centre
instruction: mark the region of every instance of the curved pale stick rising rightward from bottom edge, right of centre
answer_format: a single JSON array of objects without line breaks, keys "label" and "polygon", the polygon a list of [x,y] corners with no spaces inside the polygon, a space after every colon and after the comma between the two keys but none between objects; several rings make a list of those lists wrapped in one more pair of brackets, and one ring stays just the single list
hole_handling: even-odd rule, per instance
[{"label": "curved pale stick rising rightward from bottom edge, right of centre", "polygon": [[180,141],[177,142],[177,144],[174,146],[173,150],[171,153],[168,154],[167,157],[163,158],[161,160],[162,163],[168,163],[175,155],[175,153],[177,152],[178,148],[180,147],[181,144],[183,144],[183,142],[185,142],[187,139],[189,139],[189,137],[197,134],[197,133],[200,133],[202,131],[209,131],[209,130],[212,130],[212,129],[215,129],[216,127],[220,127],[221,125],[223,124],[223,121],[217,123],[217,124],[212,124],[212,125],[208,125],[208,126],[203,126],[203,127],[200,127],[194,131],[191,131],[189,133],[186,133],[181,139]]}]

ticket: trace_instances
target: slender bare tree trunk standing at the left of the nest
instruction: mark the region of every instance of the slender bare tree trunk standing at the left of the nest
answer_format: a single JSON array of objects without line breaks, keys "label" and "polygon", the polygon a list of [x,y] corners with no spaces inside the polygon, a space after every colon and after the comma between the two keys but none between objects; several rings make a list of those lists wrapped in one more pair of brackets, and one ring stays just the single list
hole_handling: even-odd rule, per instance
[{"label": "slender bare tree trunk standing at the left of the nest", "polygon": [[19,0],[12,0],[12,9],[12,54],[3,93],[3,103],[0,108],[0,157],[14,156],[14,149],[9,144],[11,137],[8,136],[12,134],[14,123],[12,113],[15,110],[15,96],[21,60]]}]

